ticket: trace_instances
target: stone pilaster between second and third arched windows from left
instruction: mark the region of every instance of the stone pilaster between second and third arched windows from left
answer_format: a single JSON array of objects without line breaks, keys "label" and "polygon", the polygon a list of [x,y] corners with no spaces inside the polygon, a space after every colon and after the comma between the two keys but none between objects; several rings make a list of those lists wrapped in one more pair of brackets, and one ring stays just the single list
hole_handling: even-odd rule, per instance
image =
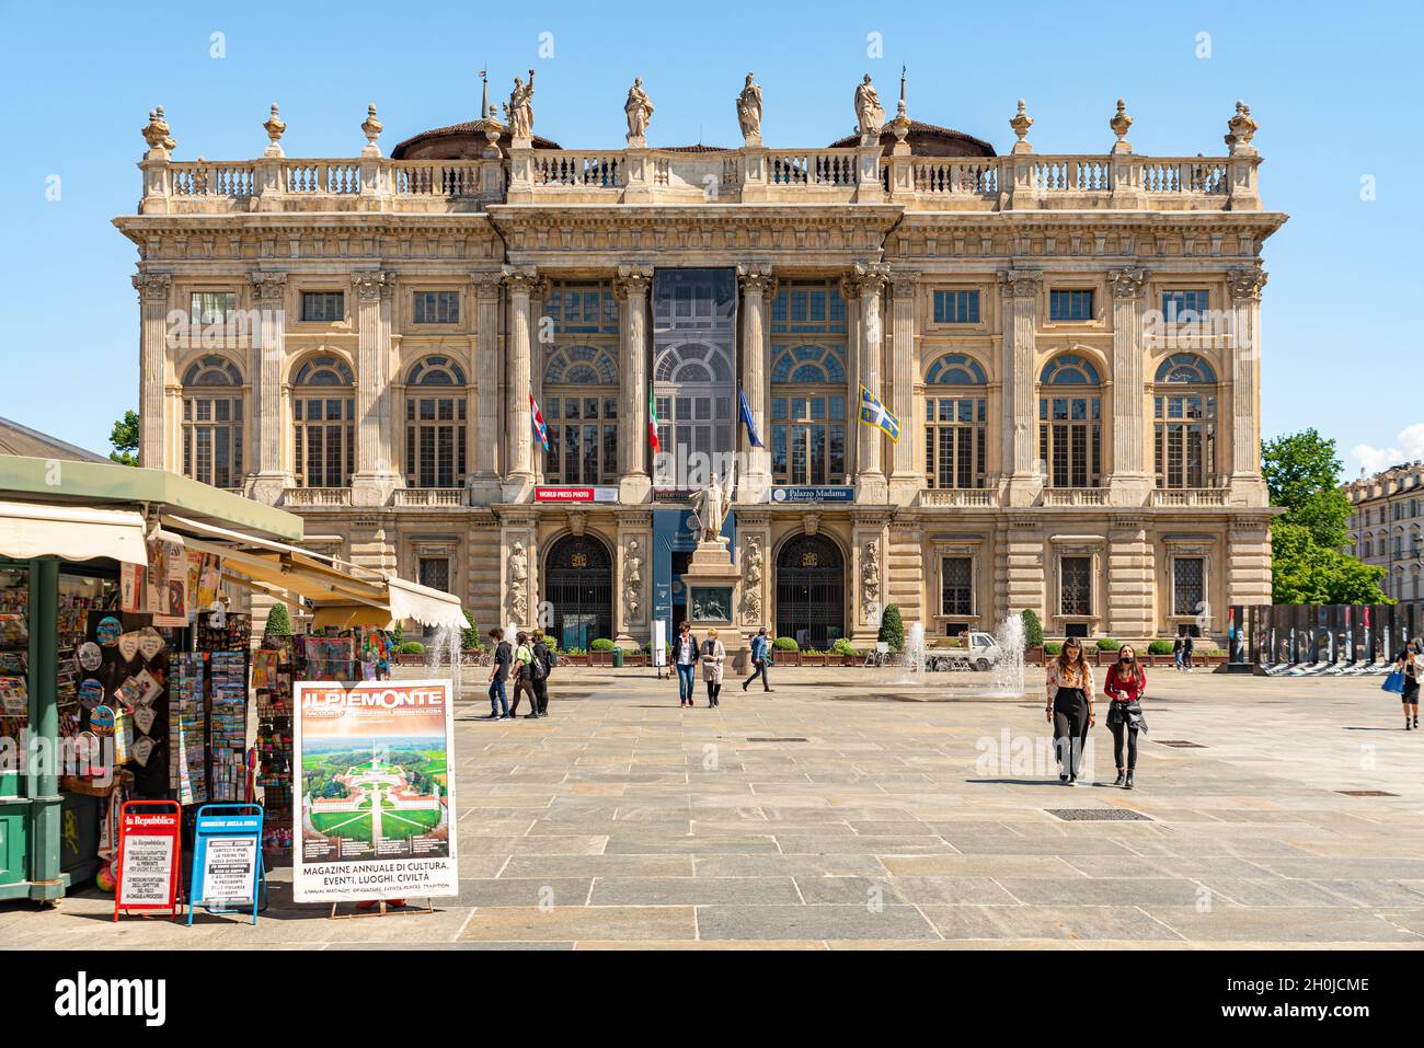
[{"label": "stone pilaster between second and third arched windows from left", "polygon": [[356,471],[353,505],[384,505],[400,486],[392,466],[390,300],[394,273],[379,269],[352,276],[356,295]]}]

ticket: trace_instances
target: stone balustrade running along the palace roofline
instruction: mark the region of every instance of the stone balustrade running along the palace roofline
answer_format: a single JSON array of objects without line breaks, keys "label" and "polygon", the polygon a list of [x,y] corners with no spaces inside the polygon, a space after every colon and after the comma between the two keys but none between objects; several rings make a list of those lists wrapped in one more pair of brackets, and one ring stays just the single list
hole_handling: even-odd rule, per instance
[{"label": "stone balustrade running along the palace roofline", "polygon": [[[488,204],[896,204],[910,211],[1260,211],[1255,152],[883,157],[879,148],[511,150],[464,161],[384,157],[142,162],[140,214],[477,211]],[[255,202],[253,202],[255,201]]]}]

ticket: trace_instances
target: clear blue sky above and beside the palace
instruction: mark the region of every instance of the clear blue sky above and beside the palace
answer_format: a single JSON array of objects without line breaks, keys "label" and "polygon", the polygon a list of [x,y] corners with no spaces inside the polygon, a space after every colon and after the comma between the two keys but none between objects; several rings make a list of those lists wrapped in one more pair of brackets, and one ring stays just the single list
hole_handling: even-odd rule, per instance
[{"label": "clear blue sky above and beside the palace", "polygon": [[[108,450],[137,406],[135,252],[110,225],[140,195],[134,164],[162,104],[177,158],[251,158],[278,101],[292,157],[355,155],[375,101],[392,145],[471,120],[476,71],[491,97],[538,71],[535,130],[565,147],[612,147],[642,75],[649,141],[735,145],[732,98],[755,71],[765,135],[824,145],[849,132],[870,71],[893,98],[910,67],[910,112],[994,142],[1015,100],[1041,152],[1105,151],[1118,95],[1145,154],[1220,154],[1245,98],[1266,162],[1269,208],[1290,222],[1266,248],[1263,433],[1316,426],[1346,470],[1424,457],[1414,353],[1424,148],[1418,40],[1424,4],[1149,3],[449,3],[261,0],[205,6],[0,3],[0,416]],[[222,33],[226,57],[209,57]],[[541,58],[540,36],[554,56]],[[884,57],[869,58],[880,33]],[[1198,57],[1198,34],[1210,57]],[[60,177],[58,201],[46,199]],[[1360,199],[1373,175],[1377,198]],[[1411,352],[1413,350],[1413,352]],[[1357,446],[1371,449],[1354,454]]]}]

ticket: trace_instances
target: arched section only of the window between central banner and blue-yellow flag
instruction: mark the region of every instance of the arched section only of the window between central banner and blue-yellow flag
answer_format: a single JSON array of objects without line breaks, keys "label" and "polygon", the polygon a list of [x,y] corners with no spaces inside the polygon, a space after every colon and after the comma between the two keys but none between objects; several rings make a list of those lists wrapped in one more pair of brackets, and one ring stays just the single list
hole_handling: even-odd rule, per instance
[{"label": "arched section only of the window between central banner and blue-yellow flag", "polygon": [[772,477],[778,484],[846,478],[846,347],[778,346],[772,356]]}]

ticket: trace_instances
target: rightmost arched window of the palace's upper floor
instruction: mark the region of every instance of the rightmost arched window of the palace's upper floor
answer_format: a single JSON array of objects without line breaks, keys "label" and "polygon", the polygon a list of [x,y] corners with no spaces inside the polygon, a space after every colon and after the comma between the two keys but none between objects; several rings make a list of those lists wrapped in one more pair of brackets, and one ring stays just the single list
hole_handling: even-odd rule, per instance
[{"label": "rightmost arched window of the palace's upper floor", "polygon": [[1152,392],[1158,487],[1216,486],[1216,373],[1193,353],[1162,362]]}]

